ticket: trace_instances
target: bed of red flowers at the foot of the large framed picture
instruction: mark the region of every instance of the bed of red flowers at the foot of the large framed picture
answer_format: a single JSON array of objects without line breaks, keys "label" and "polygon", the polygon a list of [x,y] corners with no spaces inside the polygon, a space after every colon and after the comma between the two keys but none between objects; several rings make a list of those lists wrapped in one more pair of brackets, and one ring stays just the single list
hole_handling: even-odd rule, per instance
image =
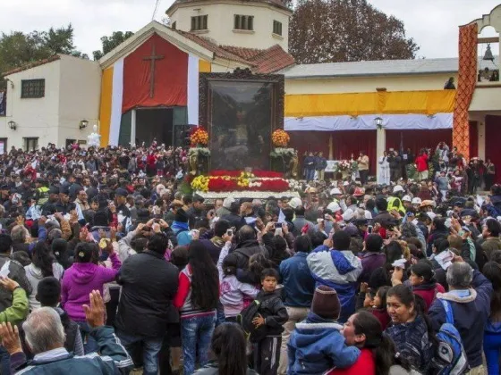
[{"label": "bed of red flowers at the foot of the large framed picture", "polygon": [[198,176],[191,181],[191,188],[202,192],[222,191],[273,191],[282,192],[290,188],[286,179],[256,177],[253,173],[241,172],[235,176]]}]

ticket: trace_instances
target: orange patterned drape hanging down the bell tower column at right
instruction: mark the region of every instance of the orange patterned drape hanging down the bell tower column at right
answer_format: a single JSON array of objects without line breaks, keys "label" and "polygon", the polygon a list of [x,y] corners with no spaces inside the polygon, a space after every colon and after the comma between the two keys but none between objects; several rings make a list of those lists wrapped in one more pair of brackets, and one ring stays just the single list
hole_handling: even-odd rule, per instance
[{"label": "orange patterned drape hanging down the bell tower column at right", "polygon": [[470,158],[468,110],[477,85],[478,30],[476,22],[459,28],[459,74],[454,102],[453,144],[466,159]]}]

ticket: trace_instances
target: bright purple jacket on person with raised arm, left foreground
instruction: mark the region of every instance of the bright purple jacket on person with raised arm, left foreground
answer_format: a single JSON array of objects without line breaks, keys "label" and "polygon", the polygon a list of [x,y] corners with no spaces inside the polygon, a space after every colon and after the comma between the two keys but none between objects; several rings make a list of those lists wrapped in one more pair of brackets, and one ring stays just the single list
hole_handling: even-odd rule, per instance
[{"label": "bright purple jacket on person with raised arm, left foreground", "polygon": [[85,321],[83,304],[90,304],[89,293],[98,290],[103,295],[103,285],[115,280],[122,263],[116,253],[110,255],[113,269],[94,263],[73,263],[64,271],[61,283],[61,305],[72,321]]}]

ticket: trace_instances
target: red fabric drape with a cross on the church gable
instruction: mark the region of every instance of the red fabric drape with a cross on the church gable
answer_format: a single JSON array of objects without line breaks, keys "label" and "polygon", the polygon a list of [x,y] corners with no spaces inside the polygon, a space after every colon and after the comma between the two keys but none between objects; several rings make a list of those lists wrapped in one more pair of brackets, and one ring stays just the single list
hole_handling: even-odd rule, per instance
[{"label": "red fabric drape with a cross on the church gable", "polygon": [[[144,60],[155,54],[154,96],[149,97],[151,63]],[[149,37],[123,61],[122,112],[134,107],[186,105],[188,96],[188,54],[157,34]]]}]

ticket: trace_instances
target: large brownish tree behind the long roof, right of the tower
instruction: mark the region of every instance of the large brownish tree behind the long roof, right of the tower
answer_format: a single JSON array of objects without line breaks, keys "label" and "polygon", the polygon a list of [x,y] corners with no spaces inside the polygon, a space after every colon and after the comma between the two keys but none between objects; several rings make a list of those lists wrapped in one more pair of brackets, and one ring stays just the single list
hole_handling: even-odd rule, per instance
[{"label": "large brownish tree behind the long roof, right of the tower", "polygon": [[367,0],[299,0],[289,25],[296,63],[413,59],[419,49],[402,21]]}]

